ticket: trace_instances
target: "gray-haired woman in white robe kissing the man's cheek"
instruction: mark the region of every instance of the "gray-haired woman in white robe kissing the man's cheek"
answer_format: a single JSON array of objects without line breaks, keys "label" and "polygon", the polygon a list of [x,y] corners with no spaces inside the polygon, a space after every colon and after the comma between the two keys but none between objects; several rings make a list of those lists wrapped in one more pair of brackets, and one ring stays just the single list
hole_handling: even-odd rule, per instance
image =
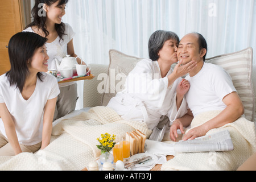
[{"label": "gray-haired woman in white robe kissing the man's cheek", "polygon": [[[195,68],[196,63],[182,65],[181,60],[171,69],[171,65],[177,63],[178,44],[179,37],[174,32],[154,32],[148,42],[150,59],[139,61],[129,73],[125,89],[109,101],[108,107],[123,119],[146,122],[153,133],[163,115],[170,121],[183,116],[187,112],[183,97],[189,82],[180,77]],[[153,138],[162,139],[158,137]]]}]

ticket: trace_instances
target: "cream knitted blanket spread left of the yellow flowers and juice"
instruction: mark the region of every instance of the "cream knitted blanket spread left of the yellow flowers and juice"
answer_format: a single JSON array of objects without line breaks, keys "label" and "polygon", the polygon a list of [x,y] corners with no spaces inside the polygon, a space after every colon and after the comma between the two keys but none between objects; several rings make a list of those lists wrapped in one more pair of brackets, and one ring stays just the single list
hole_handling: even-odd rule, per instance
[{"label": "cream knitted blanket spread left of the yellow flowers and juice", "polygon": [[35,154],[0,157],[0,170],[81,170],[100,156],[96,147],[101,134],[115,134],[115,142],[125,133],[141,130],[147,137],[146,123],[123,121],[108,107],[93,107],[88,112],[63,119],[52,131],[52,142]]}]

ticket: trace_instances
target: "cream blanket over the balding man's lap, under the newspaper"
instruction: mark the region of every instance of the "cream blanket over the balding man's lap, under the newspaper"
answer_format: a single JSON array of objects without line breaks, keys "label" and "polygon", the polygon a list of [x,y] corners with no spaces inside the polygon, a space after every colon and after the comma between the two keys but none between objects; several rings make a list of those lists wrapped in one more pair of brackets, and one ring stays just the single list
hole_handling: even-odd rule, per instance
[{"label": "cream blanket over the balding man's lap, under the newspaper", "polygon": [[[210,111],[195,117],[191,128],[202,125],[215,117],[220,111]],[[163,164],[162,170],[236,170],[249,156],[256,152],[255,126],[253,122],[241,117],[207,134],[229,130],[234,145],[233,151],[195,152],[177,154],[174,159]]]}]

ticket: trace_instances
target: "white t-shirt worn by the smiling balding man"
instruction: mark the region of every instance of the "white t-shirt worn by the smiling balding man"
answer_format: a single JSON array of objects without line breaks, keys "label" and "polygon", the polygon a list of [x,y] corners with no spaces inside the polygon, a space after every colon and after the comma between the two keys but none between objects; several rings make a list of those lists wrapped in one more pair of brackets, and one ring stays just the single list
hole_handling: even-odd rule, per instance
[{"label": "white t-shirt worn by the smiling balding man", "polygon": [[188,75],[185,79],[190,82],[185,98],[194,117],[204,111],[224,110],[226,105],[222,102],[223,98],[237,92],[228,72],[218,65],[204,63],[197,75]]}]

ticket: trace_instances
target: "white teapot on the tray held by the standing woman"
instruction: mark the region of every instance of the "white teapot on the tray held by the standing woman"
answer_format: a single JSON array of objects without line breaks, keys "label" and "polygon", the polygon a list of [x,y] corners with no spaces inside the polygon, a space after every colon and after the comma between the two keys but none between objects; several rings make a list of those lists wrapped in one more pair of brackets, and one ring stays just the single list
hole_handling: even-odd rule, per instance
[{"label": "white teapot on the tray held by the standing woman", "polygon": [[[77,58],[80,58],[79,56],[75,57],[71,57],[70,55],[67,55],[66,57],[64,57],[61,60],[61,63],[59,63],[59,60],[57,60],[56,58],[54,59],[56,62],[56,66],[57,66],[57,71],[60,72],[61,69],[69,69],[72,68],[73,69],[73,73],[76,73],[76,64],[77,63]],[[82,60],[82,59],[81,59]]]}]

